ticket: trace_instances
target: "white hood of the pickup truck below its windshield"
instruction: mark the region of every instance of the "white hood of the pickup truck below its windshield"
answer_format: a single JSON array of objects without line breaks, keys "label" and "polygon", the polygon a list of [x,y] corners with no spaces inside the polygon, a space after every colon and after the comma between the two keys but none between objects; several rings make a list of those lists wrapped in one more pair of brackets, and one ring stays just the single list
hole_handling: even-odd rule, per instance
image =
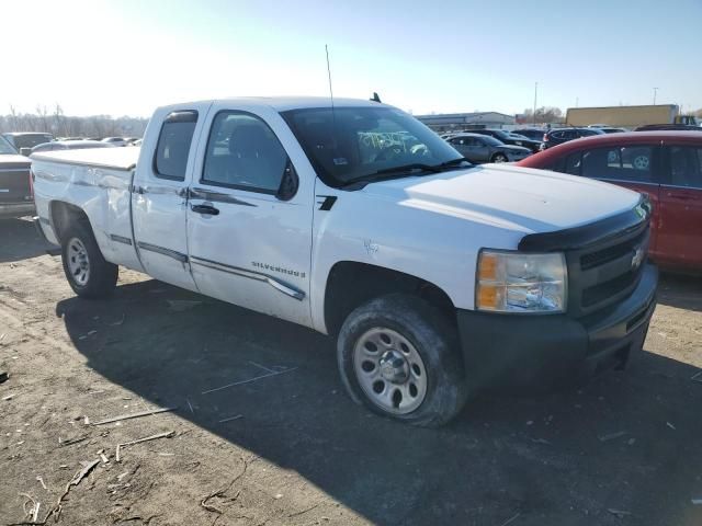
[{"label": "white hood of the pickup truck below its windshield", "polygon": [[633,208],[641,198],[612,184],[505,164],[382,181],[361,192],[524,233],[593,222]]}]

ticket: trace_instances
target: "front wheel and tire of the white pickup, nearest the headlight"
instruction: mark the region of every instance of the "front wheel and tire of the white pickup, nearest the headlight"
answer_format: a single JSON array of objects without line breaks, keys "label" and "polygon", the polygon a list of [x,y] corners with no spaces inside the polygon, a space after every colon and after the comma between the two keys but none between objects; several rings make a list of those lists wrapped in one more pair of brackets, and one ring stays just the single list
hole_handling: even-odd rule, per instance
[{"label": "front wheel and tire of the white pickup, nearest the headlight", "polygon": [[373,299],[341,327],[341,379],[353,401],[377,414],[422,427],[443,425],[466,399],[457,340],[439,311],[419,298]]}]

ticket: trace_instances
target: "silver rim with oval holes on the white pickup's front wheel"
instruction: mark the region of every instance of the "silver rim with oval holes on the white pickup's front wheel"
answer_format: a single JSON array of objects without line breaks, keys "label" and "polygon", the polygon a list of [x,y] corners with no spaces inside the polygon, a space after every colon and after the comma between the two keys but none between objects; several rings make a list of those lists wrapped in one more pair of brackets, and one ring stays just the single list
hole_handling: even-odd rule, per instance
[{"label": "silver rim with oval holes on the white pickup's front wheel", "polygon": [[383,411],[407,414],[424,401],[424,362],[415,345],[392,329],[376,327],[359,338],[353,369],[365,396]]}]

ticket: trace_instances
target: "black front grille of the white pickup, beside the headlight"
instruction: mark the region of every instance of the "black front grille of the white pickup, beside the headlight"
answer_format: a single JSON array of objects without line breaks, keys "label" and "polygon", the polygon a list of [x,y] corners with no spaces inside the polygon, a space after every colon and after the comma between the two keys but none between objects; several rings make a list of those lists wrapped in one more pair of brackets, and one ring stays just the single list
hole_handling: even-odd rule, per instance
[{"label": "black front grille of the white pickup, beside the headlight", "polygon": [[568,311],[587,316],[627,297],[638,284],[648,240],[646,221],[615,239],[566,252]]}]

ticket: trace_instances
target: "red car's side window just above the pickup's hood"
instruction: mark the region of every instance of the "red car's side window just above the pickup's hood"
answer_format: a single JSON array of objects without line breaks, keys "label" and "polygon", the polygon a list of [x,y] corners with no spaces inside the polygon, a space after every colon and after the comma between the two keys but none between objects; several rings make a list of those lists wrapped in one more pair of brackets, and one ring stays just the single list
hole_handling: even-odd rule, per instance
[{"label": "red car's side window just above the pickup's hood", "polygon": [[592,179],[654,183],[653,148],[624,146],[586,150],[580,174]]}]

